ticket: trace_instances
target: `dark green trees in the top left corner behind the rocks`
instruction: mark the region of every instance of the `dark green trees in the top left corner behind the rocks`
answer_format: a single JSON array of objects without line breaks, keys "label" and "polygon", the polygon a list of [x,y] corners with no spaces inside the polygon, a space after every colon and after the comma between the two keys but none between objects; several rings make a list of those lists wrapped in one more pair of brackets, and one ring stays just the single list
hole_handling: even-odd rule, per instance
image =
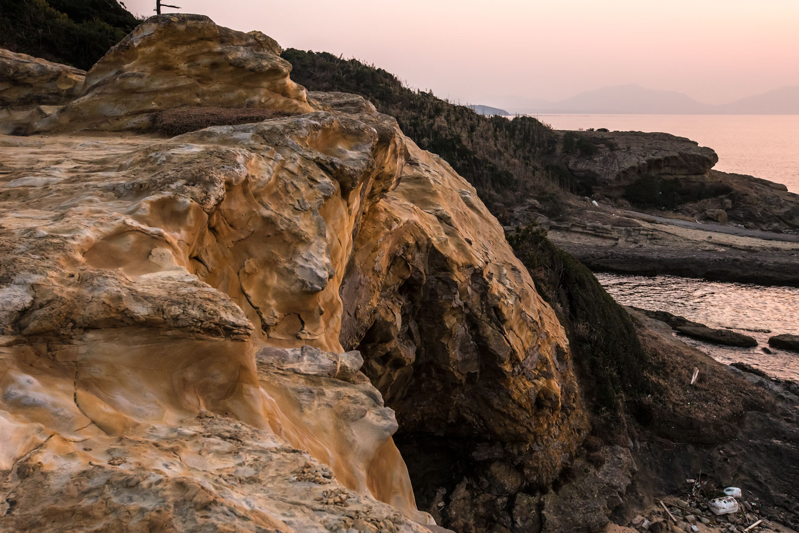
[{"label": "dark green trees in the top left corner behind the rocks", "polygon": [[139,22],[117,0],[2,0],[0,48],[89,70]]}]

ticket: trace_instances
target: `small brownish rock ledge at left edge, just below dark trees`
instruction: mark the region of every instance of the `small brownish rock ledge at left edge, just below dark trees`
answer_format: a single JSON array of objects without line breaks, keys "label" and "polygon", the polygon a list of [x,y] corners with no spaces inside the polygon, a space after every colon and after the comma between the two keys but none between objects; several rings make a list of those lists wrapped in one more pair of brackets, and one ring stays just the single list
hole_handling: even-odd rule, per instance
[{"label": "small brownish rock ledge at left edge, just below dark trees", "polygon": [[0,48],[0,106],[65,104],[78,97],[85,71]]}]

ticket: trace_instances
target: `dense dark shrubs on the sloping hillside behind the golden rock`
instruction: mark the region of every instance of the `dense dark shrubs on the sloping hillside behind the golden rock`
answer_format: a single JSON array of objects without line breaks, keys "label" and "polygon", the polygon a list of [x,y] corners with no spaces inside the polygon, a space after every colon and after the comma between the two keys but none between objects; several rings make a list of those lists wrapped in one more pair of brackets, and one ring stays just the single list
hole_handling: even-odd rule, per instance
[{"label": "dense dark shrubs on the sloping hillside behind the golden rock", "polygon": [[294,66],[292,79],[308,90],[360,94],[396,117],[408,137],[443,157],[497,214],[523,197],[555,189],[540,163],[551,149],[551,129],[533,117],[484,117],[408,89],[383,69],[326,52],[290,48],[283,57]]}]

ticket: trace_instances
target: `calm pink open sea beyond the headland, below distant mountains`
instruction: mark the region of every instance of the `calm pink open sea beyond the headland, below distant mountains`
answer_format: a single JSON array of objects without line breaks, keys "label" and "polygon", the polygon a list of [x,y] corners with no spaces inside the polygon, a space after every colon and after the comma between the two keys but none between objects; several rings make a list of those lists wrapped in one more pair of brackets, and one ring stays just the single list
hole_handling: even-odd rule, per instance
[{"label": "calm pink open sea beyond the headland, below distant mountains", "polygon": [[715,169],[784,183],[799,193],[799,115],[536,115],[555,129],[660,131],[718,153]]}]

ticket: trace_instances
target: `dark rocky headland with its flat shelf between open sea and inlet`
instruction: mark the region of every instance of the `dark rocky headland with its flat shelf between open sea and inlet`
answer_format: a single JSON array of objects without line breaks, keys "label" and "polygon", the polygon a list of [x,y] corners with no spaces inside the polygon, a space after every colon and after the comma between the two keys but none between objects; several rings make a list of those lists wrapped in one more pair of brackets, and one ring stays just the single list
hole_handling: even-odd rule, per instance
[{"label": "dark rocky headland with its flat shelf between open sea and inlet", "polygon": [[799,195],[785,185],[715,171],[712,149],[667,133],[557,133],[549,168],[585,196],[530,199],[508,229],[535,222],[600,272],[799,286]]}]

